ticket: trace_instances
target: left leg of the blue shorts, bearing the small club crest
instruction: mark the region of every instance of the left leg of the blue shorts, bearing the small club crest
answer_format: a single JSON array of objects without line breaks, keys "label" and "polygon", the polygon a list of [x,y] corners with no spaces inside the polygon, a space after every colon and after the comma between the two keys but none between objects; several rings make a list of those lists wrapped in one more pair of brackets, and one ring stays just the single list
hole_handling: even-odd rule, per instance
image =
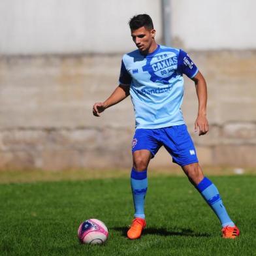
[{"label": "left leg of the blue shorts, bearing the small club crest", "polygon": [[133,136],[132,152],[148,150],[153,158],[162,143],[154,136],[153,129],[136,129]]}]

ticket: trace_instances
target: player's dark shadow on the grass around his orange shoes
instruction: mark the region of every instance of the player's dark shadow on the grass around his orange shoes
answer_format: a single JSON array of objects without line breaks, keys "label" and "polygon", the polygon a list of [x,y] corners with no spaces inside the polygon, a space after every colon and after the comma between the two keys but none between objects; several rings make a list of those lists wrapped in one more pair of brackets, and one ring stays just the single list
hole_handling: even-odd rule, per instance
[{"label": "player's dark shadow on the grass around his orange shoes", "polygon": [[[112,227],[115,231],[121,231],[122,236],[127,236],[127,227]],[[159,236],[196,236],[196,237],[208,237],[210,234],[199,233],[192,231],[191,229],[180,229],[180,231],[170,231],[164,228],[146,228],[143,231],[143,234],[157,234]]]}]

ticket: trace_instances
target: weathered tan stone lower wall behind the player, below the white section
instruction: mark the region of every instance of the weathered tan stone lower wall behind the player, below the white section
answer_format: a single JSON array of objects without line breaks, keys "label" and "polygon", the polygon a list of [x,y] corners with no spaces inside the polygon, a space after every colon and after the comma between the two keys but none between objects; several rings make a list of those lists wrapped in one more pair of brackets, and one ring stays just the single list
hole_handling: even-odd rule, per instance
[{"label": "weathered tan stone lower wall behind the player, below the white section", "polygon": [[[197,95],[185,78],[182,110],[202,165],[256,167],[256,52],[189,52],[208,83],[205,136],[193,132]],[[120,55],[1,57],[0,169],[129,168],[129,98],[92,115],[118,86]],[[161,150],[151,167],[172,166]]]}]

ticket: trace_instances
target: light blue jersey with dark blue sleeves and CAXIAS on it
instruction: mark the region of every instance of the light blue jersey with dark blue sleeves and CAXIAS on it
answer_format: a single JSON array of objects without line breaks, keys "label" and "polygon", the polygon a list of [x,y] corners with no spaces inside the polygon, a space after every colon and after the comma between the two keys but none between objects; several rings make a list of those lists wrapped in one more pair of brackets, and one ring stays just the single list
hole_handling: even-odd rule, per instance
[{"label": "light blue jersey with dark blue sleeves and CAXIAS on it", "polygon": [[187,54],[179,49],[158,45],[143,56],[139,50],[125,54],[121,63],[120,84],[130,85],[135,109],[135,128],[157,129],[184,124],[180,109],[186,74],[198,72]]}]

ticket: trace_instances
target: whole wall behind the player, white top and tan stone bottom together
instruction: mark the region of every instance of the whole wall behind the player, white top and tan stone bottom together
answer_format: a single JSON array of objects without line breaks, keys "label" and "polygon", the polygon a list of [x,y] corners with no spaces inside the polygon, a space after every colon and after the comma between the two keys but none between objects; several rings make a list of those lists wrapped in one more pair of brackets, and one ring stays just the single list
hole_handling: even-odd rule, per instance
[{"label": "whole wall behind the player, white top and tan stone bottom together", "polygon": [[[256,166],[255,8],[253,0],[171,1],[172,44],[208,81],[208,135],[193,134],[189,80],[183,105],[204,165]],[[91,108],[117,86],[121,53],[134,49],[127,22],[144,12],[161,42],[160,0],[0,1],[0,169],[131,166],[129,99],[101,118]],[[151,165],[170,161],[163,151]]]}]

